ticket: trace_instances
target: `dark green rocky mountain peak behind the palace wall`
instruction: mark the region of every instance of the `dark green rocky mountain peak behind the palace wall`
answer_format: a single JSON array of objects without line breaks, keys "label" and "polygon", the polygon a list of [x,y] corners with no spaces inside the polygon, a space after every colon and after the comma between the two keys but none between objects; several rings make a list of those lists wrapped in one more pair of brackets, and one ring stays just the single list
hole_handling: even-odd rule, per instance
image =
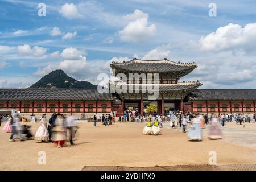
[{"label": "dark green rocky mountain peak behind the palace wall", "polygon": [[77,81],[69,77],[61,69],[57,69],[42,77],[29,88],[94,89],[97,88],[97,85],[93,85],[88,81]]}]

